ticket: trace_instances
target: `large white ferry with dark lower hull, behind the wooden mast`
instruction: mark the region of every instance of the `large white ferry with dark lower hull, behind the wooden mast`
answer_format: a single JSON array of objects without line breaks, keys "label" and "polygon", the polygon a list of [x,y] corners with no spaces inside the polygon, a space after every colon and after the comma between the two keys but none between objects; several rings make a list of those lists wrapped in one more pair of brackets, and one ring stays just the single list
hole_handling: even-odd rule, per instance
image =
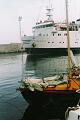
[{"label": "large white ferry with dark lower hull, behind the wooden mast", "polygon": [[[55,23],[52,8],[47,8],[47,20],[40,21],[32,28],[33,36],[22,37],[23,47],[31,55],[66,55],[66,22]],[[70,48],[73,53],[80,53],[80,19],[69,23]]]}]

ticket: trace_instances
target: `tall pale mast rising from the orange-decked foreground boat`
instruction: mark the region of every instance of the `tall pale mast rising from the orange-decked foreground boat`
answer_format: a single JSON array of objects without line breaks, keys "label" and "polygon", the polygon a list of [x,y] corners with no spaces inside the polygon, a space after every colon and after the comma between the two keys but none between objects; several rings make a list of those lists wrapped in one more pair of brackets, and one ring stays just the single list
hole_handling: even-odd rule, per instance
[{"label": "tall pale mast rising from the orange-decked foreground boat", "polygon": [[66,2],[66,24],[67,24],[67,47],[68,47],[68,75],[70,77],[71,73],[71,62],[70,62],[70,38],[69,38],[69,22],[68,22],[68,0]]}]

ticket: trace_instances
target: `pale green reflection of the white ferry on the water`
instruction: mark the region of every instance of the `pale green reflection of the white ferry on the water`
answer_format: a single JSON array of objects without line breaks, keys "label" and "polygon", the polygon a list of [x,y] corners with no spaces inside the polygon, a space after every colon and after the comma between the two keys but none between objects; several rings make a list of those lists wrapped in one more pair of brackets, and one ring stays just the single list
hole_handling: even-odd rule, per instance
[{"label": "pale green reflection of the white ferry on the water", "polygon": [[67,57],[27,56],[25,74],[29,77],[47,77],[67,70]]}]

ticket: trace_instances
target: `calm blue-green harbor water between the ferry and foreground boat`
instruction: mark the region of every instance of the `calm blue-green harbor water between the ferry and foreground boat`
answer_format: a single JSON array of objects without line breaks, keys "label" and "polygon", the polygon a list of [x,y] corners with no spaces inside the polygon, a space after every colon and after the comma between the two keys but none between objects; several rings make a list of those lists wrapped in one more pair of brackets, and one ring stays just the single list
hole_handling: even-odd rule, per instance
[{"label": "calm blue-green harbor water between the ferry and foreground boat", "polygon": [[[80,63],[80,55],[76,55]],[[0,120],[45,120],[34,113],[17,90],[23,78],[43,78],[67,72],[67,56],[0,54]],[[49,119],[49,120],[53,120]]]}]

